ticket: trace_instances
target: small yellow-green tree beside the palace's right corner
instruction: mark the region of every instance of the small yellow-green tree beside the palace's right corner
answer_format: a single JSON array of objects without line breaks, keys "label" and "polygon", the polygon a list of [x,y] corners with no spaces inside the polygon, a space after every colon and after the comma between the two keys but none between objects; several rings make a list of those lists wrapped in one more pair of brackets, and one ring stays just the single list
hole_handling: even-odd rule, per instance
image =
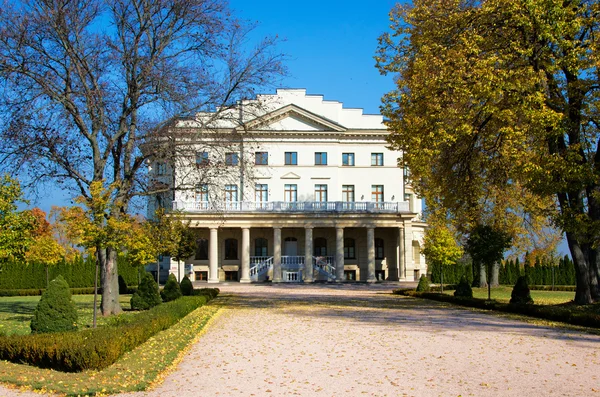
[{"label": "small yellow-green tree beside the palace's right corner", "polygon": [[463,254],[455,236],[446,225],[435,222],[425,230],[423,255],[431,267],[439,269],[441,275],[441,288],[444,292],[444,267],[456,263]]}]

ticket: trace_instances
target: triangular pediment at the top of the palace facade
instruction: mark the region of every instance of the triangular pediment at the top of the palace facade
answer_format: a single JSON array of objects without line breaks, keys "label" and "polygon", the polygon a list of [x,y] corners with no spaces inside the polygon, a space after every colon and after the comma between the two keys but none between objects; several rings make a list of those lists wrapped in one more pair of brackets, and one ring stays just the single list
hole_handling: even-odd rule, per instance
[{"label": "triangular pediment at the top of the palace facade", "polygon": [[247,131],[346,131],[344,126],[294,104],[258,117],[239,129]]}]

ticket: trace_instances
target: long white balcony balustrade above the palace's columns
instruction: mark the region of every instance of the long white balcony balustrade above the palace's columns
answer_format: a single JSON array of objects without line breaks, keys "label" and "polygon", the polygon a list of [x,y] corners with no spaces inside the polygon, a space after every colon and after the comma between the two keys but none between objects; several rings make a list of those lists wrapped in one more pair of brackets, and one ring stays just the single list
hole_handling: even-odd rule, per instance
[{"label": "long white balcony balustrade above the palace's columns", "polygon": [[345,213],[407,213],[409,203],[401,202],[345,202],[345,201],[173,201],[173,210],[194,213],[224,212],[345,212]]}]

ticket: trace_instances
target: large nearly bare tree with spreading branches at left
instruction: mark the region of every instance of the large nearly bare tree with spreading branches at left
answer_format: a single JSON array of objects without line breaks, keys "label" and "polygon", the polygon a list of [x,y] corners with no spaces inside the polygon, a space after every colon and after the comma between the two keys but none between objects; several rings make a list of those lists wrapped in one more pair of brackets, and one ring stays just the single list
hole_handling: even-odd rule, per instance
[{"label": "large nearly bare tree with spreading branches at left", "polygon": [[[163,127],[198,111],[214,111],[208,124],[230,115],[284,72],[276,39],[251,46],[251,31],[220,0],[4,2],[1,164],[87,201],[95,184],[110,186],[111,221],[135,197],[168,196],[146,171],[183,148],[166,144]],[[214,145],[230,143],[225,134]],[[117,251],[97,249],[102,312],[118,313]]]}]

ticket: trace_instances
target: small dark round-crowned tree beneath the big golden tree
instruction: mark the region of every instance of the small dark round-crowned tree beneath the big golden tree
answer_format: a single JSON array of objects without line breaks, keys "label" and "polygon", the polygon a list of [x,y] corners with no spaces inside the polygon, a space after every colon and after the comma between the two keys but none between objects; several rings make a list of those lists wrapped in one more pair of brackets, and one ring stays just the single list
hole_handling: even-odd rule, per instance
[{"label": "small dark round-crowned tree beneath the big golden tree", "polygon": [[510,247],[512,239],[504,231],[488,225],[477,225],[467,240],[467,252],[473,258],[473,264],[485,270],[488,284],[488,300],[491,300],[491,274],[494,264],[500,262],[504,251]]}]

